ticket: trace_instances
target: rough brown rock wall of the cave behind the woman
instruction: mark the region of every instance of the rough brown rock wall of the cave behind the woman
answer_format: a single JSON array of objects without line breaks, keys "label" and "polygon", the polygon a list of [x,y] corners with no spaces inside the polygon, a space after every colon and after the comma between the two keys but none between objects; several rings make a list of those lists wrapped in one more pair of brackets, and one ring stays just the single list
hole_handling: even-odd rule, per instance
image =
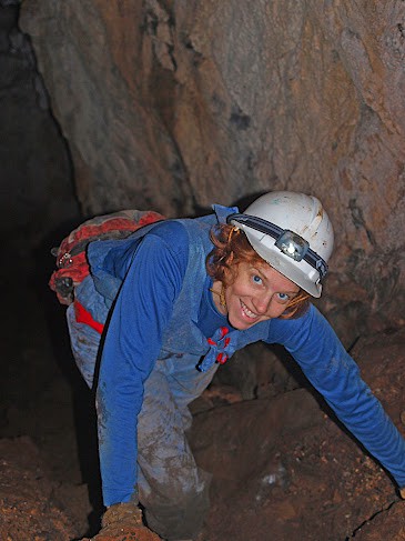
[{"label": "rough brown rock wall of the cave behind the woman", "polygon": [[340,334],[404,324],[404,1],[24,0],[20,27],[85,213],[312,192]]}]

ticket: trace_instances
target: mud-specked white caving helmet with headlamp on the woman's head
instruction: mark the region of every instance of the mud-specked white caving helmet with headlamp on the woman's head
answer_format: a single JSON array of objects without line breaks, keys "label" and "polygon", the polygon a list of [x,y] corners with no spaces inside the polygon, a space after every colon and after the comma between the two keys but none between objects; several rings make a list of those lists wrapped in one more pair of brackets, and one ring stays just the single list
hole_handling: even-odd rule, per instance
[{"label": "mud-specked white caving helmet with headlamp on the woman's head", "polygon": [[321,201],[290,191],[265,193],[227,223],[246,233],[252,248],[283,275],[313,297],[333,250],[333,228]]}]

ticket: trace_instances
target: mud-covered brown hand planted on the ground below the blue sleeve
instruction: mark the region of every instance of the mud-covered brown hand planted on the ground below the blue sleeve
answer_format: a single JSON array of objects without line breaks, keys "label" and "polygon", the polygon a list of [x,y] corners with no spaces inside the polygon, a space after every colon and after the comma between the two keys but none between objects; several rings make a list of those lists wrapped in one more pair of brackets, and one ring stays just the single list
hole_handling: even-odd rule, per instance
[{"label": "mud-covered brown hand planted on the ground below the blue sleeve", "polygon": [[135,503],[114,503],[105,511],[100,532],[82,541],[161,541],[143,525],[142,511]]}]

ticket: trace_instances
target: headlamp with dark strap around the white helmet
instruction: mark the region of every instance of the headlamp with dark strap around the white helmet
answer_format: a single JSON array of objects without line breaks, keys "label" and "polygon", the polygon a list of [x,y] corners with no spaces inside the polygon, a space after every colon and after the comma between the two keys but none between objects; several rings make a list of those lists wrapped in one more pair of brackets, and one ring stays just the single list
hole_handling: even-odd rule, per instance
[{"label": "headlamp with dark strap around the white helmet", "polygon": [[263,220],[250,214],[230,214],[226,222],[236,222],[241,226],[255,229],[261,233],[269,234],[275,239],[275,247],[279,248],[285,256],[294,261],[306,261],[311,267],[316,269],[323,279],[327,273],[327,263],[316,252],[311,250],[310,243],[300,234],[294,233],[287,229],[282,229],[275,223]]}]

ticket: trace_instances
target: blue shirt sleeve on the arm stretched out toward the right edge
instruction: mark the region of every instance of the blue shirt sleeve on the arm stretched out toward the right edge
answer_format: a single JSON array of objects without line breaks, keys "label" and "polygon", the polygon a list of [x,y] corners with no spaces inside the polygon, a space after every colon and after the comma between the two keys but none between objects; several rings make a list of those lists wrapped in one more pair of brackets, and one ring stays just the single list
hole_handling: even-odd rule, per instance
[{"label": "blue shirt sleeve on the arm stretched out toward the right edge", "polygon": [[312,305],[303,318],[279,320],[276,327],[282,337],[280,343],[337,418],[404,487],[404,438],[363,381],[358,365],[326,319]]}]

